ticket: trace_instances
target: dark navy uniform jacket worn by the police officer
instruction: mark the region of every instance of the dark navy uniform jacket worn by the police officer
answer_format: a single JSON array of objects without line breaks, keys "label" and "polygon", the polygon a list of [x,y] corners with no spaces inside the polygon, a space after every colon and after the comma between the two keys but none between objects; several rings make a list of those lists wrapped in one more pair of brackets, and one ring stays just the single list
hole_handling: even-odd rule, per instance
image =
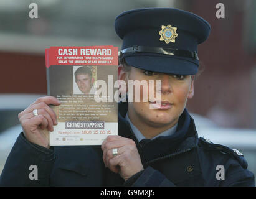
[{"label": "dark navy uniform jacket worn by the police officer", "polygon": [[[125,119],[127,108],[127,103],[118,104],[118,134],[136,142],[144,170],[126,182],[105,168],[100,146],[46,149],[27,141],[21,133],[7,158],[0,185],[255,186],[254,174],[247,170],[244,157],[228,147],[198,138],[186,109],[175,134],[138,143]],[[38,180],[29,178],[31,165],[37,165]],[[224,169],[221,178],[219,167]]]}]

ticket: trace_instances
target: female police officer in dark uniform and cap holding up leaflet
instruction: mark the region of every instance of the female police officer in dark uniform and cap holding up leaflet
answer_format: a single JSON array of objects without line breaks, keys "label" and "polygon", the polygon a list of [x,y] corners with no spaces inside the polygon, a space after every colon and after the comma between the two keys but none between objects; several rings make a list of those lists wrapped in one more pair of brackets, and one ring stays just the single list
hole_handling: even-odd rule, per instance
[{"label": "female police officer in dark uniform and cap holding up leaflet", "polygon": [[[210,25],[191,12],[156,8],[120,14],[115,29],[123,39],[120,80],[161,80],[158,108],[151,109],[156,104],[151,99],[121,102],[118,136],[108,136],[101,149],[69,146],[52,150],[39,125],[52,130],[56,116],[47,105],[59,102],[50,96],[41,98],[19,114],[24,136],[18,137],[0,182],[22,183],[13,170],[8,174],[14,169],[12,163],[20,160],[19,165],[44,168],[40,185],[254,186],[244,157],[199,139],[185,108],[194,95],[197,45],[209,36]],[[40,117],[33,116],[34,109],[39,109]],[[17,154],[23,159],[15,159]],[[224,168],[220,177],[219,167]],[[16,170],[27,178],[20,168]],[[34,185],[27,180],[26,184]]]}]

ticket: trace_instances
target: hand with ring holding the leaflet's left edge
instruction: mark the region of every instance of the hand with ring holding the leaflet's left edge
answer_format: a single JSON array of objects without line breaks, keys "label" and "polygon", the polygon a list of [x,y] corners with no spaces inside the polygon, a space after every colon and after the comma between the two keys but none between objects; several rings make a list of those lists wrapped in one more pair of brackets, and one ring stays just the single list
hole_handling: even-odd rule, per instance
[{"label": "hand with ring holding the leaflet's left edge", "polygon": [[[57,106],[60,105],[60,101],[53,96],[38,98],[18,116],[26,139],[48,149],[50,148],[49,131],[54,131],[53,126],[57,125],[56,114],[49,104]],[[37,116],[33,113],[35,109]]]}]

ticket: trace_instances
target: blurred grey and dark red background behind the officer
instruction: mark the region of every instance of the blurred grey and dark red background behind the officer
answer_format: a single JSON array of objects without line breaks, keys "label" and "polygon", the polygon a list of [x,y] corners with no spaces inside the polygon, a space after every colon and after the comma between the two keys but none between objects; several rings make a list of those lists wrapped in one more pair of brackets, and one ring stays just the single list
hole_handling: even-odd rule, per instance
[{"label": "blurred grey and dark red background behind the officer", "polygon": [[[32,2],[38,5],[37,19],[29,18]],[[216,17],[219,2],[224,19]],[[199,136],[239,149],[256,173],[255,0],[0,0],[0,174],[22,131],[17,114],[47,95],[44,49],[121,47],[115,17],[141,7],[185,9],[211,24],[209,39],[199,45],[204,72],[187,109]]]}]

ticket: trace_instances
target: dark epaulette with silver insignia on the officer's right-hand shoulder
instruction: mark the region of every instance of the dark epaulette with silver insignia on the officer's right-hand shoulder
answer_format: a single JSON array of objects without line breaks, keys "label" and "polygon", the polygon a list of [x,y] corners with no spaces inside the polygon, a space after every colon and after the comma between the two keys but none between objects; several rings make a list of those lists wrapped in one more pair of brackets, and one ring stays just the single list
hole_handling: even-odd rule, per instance
[{"label": "dark epaulette with silver insignia on the officer's right-hand shoulder", "polygon": [[199,147],[202,147],[204,150],[217,151],[219,155],[228,155],[230,158],[237,160],[244,169],[248,167],[244,155],[237,149],[230,149],[222,144],[214,144],[209,139],[204,139],[204,137],[199,137],[198,144]]}]

